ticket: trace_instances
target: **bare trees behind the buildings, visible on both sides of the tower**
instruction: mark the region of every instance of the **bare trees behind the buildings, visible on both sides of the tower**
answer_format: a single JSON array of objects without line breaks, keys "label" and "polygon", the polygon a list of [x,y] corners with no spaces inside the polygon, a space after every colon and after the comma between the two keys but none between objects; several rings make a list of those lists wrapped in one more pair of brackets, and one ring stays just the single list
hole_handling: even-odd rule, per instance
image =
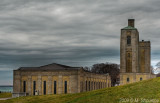
[{"label": "bare trees behind the buildings, visible on both sides of the tower", "polygon": [[[151,73],[156,74],[157,77],[160,77],[160,62],[158,62],[154,68],[151,66]],[[84,67],[86,71],[92,73],[106,74],[108,73],[111,76],[111,86],[115,86],[119,83],[119,74],[120,74],[120,65],[116,63],[97,63],[93,64],[91,67]]]}]

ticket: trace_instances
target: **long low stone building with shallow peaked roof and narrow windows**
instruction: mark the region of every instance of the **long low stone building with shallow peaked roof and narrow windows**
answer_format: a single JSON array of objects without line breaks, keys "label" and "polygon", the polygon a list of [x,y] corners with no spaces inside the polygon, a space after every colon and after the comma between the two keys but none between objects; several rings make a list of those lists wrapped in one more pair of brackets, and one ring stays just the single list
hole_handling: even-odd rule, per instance
[{"label": "long low stone building with shallow peaked roof and narrow windows", "polygon": [[82,67],[49,64],[14,70],[13,97],[29,95],[79,93],[111,86],[108,74],[95,74]]}]

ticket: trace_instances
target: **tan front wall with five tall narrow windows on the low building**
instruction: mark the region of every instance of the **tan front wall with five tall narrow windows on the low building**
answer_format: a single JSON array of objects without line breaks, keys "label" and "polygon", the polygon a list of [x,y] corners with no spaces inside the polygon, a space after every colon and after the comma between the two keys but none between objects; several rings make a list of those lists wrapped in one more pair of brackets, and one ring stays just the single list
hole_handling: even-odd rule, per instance
[{"label": "tan front wall with five tall narrow windows on the low building", "polygon": [[44,94],[43,82],[46,81],[46,94],[53,94],[54,81],[57,81],[57,94],[64,93],[64,82],[67,81],[67,92],[77,93],[78,71],[14,71],[13,92],[24,92],[23,81],[26,81],[26,92],[34,94],[33,82],[36,82],[36,91],[39,95]]}]

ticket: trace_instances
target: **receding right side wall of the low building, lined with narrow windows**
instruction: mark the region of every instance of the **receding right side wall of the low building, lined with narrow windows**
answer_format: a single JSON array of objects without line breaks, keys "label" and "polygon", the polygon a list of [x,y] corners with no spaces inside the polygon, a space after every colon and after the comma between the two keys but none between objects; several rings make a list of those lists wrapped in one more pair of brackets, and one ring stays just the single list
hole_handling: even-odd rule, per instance
[{"label": "receding right side wall of the low building, lined with narrow windows", "polygon": [[109,74],[95,74],[81,71],[80,73],[80,92],[91,91],[111,87]]}]

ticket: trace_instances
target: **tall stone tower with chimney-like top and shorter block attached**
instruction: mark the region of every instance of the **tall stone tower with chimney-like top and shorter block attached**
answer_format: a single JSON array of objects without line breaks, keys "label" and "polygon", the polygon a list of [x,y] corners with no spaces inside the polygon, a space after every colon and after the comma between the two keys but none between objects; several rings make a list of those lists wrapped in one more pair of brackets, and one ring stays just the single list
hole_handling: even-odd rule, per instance
[{"label": "tall stone tower with chimney-like top and shorter block attached", "polygon": [[134,19],[121,29],[120,39],[120,85],[154,78],[151,73],[150,41],[139,41]]}]

